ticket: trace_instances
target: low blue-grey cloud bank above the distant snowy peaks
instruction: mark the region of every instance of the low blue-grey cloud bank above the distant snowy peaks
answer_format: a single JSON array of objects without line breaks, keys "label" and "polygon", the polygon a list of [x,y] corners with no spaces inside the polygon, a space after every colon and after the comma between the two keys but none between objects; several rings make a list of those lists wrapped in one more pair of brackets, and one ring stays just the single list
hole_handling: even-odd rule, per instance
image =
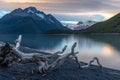
[{"label": "low blue-grey cloud bank above the distant snowy peaks", "polygon": [[103,21],[104,16],[101,14],[79,14],[79,15],[68,15],[68,14],[54,14],[54,16],[60,21]]}]

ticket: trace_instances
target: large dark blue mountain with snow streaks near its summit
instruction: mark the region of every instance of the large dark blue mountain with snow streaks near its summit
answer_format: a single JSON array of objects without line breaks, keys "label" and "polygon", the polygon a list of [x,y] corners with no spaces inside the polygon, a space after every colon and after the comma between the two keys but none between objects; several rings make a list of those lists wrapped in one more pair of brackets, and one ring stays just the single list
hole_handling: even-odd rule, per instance
[{"label": "large dark blue mountain with snow streaks near its summit", "polygon": [[0,19],[0,33],[26,34],[64,31],[64,27],[54,16],[38,11],[35,7],[15,9]]}]

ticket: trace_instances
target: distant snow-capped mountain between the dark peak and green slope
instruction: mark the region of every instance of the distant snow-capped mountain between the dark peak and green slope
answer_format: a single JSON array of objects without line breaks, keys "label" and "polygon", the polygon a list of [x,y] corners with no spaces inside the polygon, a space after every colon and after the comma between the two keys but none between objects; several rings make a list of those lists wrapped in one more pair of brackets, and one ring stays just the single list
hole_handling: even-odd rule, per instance
[{"label": "distant snow-capped mountain between the dark peak and green slope", "polygon": [[89,27],[91,27],[92,25],[96,24],[96,21],[86,21],[86,22],[78,22],[75,27],[74,30],[82,30],[82,29],[87,29]]}]

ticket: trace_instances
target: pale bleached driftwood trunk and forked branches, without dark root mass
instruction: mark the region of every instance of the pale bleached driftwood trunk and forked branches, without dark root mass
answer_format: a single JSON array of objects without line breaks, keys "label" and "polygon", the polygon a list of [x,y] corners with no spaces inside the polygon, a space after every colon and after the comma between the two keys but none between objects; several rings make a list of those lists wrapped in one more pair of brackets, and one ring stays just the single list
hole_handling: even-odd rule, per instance
[{"label": "pale bleached driftwood trunk and forked branches, without dark root mass", "polygon": [[[67,57],[72,56],[72,58],[75,59],[75,61],[78,64],[78,67],[80,68],[80,64],[76,56],[78,52],[74,51],[75,47],[77,46],[76,42],[73,44],[70,53],[64,53],[67,48],[67,46],[65,46],[62,49],[62,51],[58,51],[55,54],[50,55],[50,56],[45,56],[45,55],[41,55],[40,53],[29,53],[28,54],[28,53],[19,51],[21,39],[22,39],[22,36],[20,35],[16,41],[16,46],[13,47],[12,49],[12,53],[17,55],[18,58],[20,59],[19,63],[29,63],[29,62],[37,63],[39,65],[40,73],[47,73],[49,71],[52,71],[58,68],[59,65],[61,65]],[[48,64],[48,61],[55,55],[59,55],[59,57],[53,63]]]}]

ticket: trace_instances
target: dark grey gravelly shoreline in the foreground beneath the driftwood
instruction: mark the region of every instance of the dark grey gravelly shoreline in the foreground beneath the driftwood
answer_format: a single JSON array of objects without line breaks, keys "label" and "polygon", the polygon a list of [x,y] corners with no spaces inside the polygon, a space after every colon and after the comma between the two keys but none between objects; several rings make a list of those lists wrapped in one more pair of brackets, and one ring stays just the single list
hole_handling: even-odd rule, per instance
[{"label": "dark grey gravelly shoreline in the foreground beneath the driftwood", "polygon": [[[85,64],[85,63],[82,63]],[[120,80],[120,71],[99,68],[92,65],[89,68],[76,68],[75,62],[67,60],[58,69],[42,75],[35,70],[33,73],[31,70],[36,69],[36,65],[33,64],[14,64],[9,68],[0,67],[0,79],[1,80]]]}]

